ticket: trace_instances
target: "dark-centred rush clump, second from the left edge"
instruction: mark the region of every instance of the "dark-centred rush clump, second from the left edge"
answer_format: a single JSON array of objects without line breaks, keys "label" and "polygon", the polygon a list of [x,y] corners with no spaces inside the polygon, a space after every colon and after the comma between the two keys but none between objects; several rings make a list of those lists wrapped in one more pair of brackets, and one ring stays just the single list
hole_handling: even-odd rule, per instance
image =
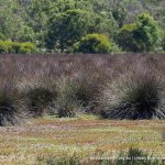
[{"label": "dark-centred rush clump, second from the left edge", "polygon": [[53,101],[56,99],[56,88],[54,81],[42,81],[35,79],[29,82],[22,82],[22,109],[29,113],[29,117],[40,117],[50,113]]}]

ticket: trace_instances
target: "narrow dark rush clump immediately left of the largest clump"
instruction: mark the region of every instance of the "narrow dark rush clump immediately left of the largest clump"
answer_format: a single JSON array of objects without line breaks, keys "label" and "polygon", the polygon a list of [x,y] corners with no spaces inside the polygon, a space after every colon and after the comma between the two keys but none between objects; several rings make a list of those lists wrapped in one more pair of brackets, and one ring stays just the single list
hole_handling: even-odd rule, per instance
[{"label": "narrow dark rush clump immediately left of the largest clump", "polygon": [[81,106],[84,107],[86,113],[95,113],[97,109],[98,105],[96,97],[98,96],[100,84],[103,84],[103,76],[99,74],[87,70],[87,73],[79,74],[75,80],[75,95],[77,100],[79,100]]}]

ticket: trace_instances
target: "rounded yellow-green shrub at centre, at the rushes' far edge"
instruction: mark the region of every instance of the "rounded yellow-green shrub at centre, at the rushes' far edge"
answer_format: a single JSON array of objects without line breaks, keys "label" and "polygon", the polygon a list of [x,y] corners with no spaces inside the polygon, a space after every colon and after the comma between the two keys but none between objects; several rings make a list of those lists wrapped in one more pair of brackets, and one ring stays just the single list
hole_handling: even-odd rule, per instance
[{"label": "rounded yellow-green shrub at centre, at the rushes' far edge", "polygon": [[88,34],[74,45],[74,52],[78,53],[109,53],[111,43],[103,34]]}]

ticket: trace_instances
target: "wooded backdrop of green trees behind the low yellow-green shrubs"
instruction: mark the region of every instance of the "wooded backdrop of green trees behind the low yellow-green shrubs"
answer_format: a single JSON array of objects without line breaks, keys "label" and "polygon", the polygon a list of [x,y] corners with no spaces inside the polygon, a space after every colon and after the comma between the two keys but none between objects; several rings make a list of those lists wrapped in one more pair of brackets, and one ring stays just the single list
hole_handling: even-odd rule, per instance
[{"label": "wooded backdrop of green trees behind the low yellow-green shrubs", "polygon": [[63,53],[99,33],[116,43],[112,52],[163,52],[164,15],[164,0],[0,0],[0,41]]}]

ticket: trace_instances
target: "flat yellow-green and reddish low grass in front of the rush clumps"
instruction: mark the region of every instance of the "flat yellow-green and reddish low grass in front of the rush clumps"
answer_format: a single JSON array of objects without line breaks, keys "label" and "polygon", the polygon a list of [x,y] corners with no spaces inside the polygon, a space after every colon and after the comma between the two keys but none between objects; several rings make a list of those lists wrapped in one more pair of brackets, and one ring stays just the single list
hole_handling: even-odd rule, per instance
[{"label": "flat yellow-green and reddish low grass in front of the rush clumps", "polygon": [[94,116],[45,117],[0,128],[0,164],[41,164],[47,156],[114,156],[136,147],[165,157],[165,121],[110,121]]}]

